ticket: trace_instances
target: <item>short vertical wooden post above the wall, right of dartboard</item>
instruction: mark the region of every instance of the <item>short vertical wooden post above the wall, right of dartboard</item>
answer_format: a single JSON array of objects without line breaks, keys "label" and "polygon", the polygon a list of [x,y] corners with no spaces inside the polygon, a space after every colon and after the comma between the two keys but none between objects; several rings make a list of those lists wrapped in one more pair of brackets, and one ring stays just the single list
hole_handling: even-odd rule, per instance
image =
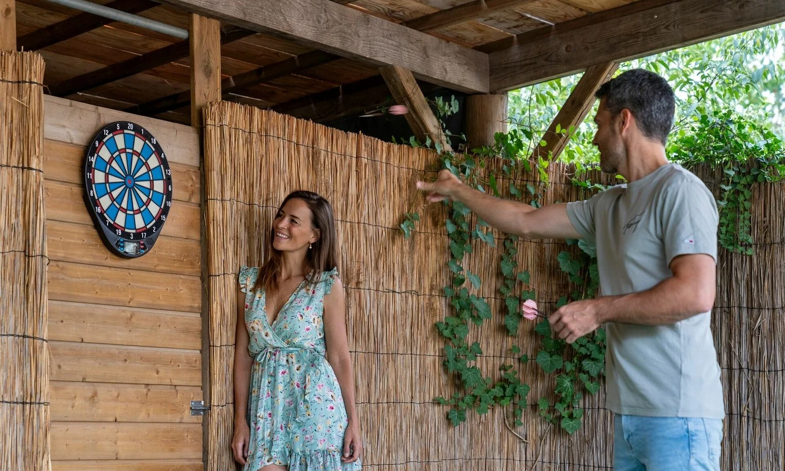
[{"label": "short vertical wooden post above the wall, right of dartboard", "polygon": [[191,126],[202,125],[202,108],[221,100],[221,22],[189,15],[191,43]]}]

